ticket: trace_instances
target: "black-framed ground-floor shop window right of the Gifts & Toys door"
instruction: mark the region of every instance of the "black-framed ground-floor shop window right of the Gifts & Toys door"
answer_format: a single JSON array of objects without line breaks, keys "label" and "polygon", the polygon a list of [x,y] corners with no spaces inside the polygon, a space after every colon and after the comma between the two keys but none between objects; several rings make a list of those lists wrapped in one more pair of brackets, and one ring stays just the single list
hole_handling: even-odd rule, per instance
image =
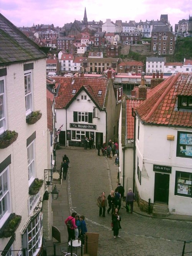
[{"label": "black-framed ground-floor shop window right of the Gifts & Toys door", "polygon": [[192,197],[191,182],[192,173],[176,171],[175,173],[175,195]]}]

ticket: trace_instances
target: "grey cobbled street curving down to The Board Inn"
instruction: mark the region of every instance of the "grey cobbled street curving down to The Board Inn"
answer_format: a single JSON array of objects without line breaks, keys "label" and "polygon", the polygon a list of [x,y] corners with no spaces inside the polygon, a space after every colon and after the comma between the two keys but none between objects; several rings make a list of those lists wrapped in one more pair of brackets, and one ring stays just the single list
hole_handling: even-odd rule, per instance
[{"label": "grey cobbled street curving down to The Board Inn", "polygon": [[[114,239],[111,214],[106,213],[106,218],[99,217],[96,206],[96,198],[102,191],[108,196],[117,187],[118,166],[114,165],[114,158],[98,156],[95,149],[60,146],[56,151],[56,169],[60,169],[64,154],[70,159],[68,177],[57,186],[59,199],[52,201],[53,226],[61,231],[61,243],[54,238],[45,241],[48,256],[53,255],[54,243],[56,255],[61,255],[63,248],[67,251],[68,233],[64,221],[73,211],[85,215],[88,232],[99,233],[98,256],[179,256],[183,241],[192,241],[192,216],[156,217],[140,211],[136,202],[133,214],[127,213],[125,207],[120,209],[121,238]],[[189,247],[192,251],[192,243]],[[78,249],[77,255],[80,253]]]}]

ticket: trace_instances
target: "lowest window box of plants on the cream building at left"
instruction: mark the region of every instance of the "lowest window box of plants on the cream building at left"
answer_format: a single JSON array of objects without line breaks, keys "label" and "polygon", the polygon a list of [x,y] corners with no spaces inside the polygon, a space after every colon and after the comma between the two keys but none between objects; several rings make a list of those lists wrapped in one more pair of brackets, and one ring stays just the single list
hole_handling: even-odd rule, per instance
[{"label": "lowest window box of plants on the cream building at left", "polygon": [[11,214],[10,220],[8,221],[7,225],[3,229],[3,236],[4,237],[10,237],[15,232],[15,230],[18,228],[20,222],[21,222],[22,216]]}]

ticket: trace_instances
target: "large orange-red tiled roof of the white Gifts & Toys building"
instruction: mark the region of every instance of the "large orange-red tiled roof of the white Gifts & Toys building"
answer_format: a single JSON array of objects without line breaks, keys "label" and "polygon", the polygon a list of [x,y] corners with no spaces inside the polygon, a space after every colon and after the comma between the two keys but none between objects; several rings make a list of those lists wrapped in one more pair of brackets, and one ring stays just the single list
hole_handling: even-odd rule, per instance
[{"label": "large orange-red tiled roof of the white Gifts & Toys building", "polygon": [[192,111],[177,110],[177,96],[192,95],[192,73],[177,73],[154,87],[136,113],[143,123],[192,126]]}]

